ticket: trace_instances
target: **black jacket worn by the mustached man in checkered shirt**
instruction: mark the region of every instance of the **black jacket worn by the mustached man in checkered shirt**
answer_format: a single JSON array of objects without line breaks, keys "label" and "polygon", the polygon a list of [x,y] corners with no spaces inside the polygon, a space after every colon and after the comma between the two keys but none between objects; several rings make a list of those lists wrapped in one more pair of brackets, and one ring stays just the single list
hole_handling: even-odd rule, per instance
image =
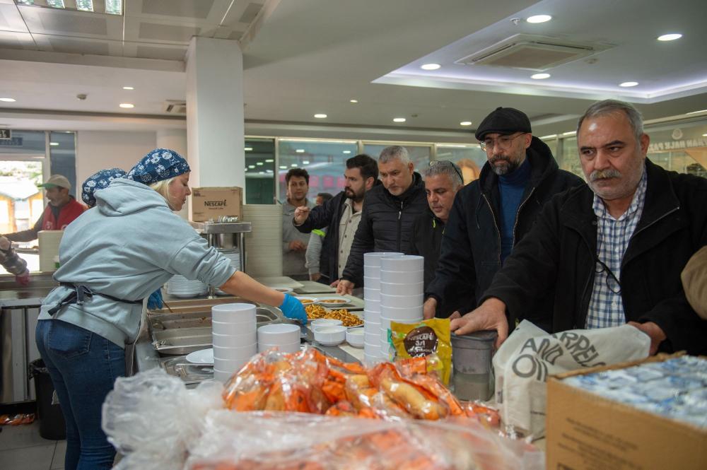
[{"label": "black jacket worn by the mustached man in checkered shirt", "polygon": [[[660,351],[707,353],[707,320],[690,307],[680,281],[689,258],[707,245],[707,180],[663,170],[646,159],[643,214],[621,261],[626,321],[655,322],[667,341]],[[556,196],[513,249],[482,300],[506,302],[522,318],[552,295],[551,331],[584,328],[597,253],[594,194],[578,187]]]}]

